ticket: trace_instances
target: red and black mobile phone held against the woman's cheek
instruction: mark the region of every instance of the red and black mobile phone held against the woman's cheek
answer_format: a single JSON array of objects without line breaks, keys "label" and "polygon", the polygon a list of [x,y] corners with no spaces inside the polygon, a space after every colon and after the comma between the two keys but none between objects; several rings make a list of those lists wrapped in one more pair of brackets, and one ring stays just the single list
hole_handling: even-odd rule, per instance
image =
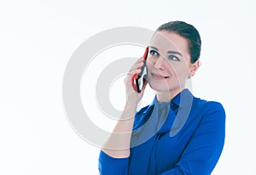
[{"label": "red and black mobile phone held against the woman's cheek", "polygon": [[142,71],[138,74],[135,74],[132,77],[132,86],[134,88],[135,91],[137,91],[137,93],[141,93],[143,90],[143,86],[146,82],[146,76],[147,76],[147,66],[146,66],[146,60],[148,57],[148,47],[145,50],[145,53],[143,55],[143,59],[144,59],[144,65],[142,67]]}]

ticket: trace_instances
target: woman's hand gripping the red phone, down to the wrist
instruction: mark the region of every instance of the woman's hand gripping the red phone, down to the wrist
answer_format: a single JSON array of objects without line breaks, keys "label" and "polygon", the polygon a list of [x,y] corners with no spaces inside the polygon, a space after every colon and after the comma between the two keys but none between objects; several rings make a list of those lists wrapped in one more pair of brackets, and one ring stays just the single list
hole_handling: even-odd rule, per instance
[{"label": "woman's hand gripping the red phone, down to the wrist", "polygon": [[133,107],[135,109],[137,108],[138,102],[143,98],[143,93],[148,83],[147,81],[144,83],[141,93],[137,93],[132,86],[133,76],[140,73],[142,71],[142,67],[143,57],[138,59],[137,62],[131,66],[130,71],[125,77],[126,105],[128,104],[129,107]]}]

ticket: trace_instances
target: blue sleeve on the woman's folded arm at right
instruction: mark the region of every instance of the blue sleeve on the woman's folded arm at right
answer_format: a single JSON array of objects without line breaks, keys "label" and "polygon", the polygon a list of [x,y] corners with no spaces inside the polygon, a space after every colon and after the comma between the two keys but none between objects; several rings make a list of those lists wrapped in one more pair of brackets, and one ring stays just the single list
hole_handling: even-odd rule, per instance
[{"label": "blue sleeve on the woman's folded arm at right", "polygon": [[225,112],[222,104],[209,103],[176,167],[160,175],[211,174],[224,147]]}]

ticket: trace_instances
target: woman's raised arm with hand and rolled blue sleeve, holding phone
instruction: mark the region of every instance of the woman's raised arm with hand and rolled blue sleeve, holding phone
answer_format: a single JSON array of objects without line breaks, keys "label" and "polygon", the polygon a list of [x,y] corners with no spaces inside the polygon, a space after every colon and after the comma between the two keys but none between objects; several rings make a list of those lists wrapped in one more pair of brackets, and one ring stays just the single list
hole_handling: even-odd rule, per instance
[{"label": "woman's raised arm with hand and rolled blue sleeve, holding phone", "polygon": [[141,71],[143,58],[131,66],[131,70],[125,77],[126,103],[125,109],[119,121],[113,129],[113,133],[104,144],[100,158],[99,170],[101,174],[127,174],[128,157],[130,156],[131,133],[137,104],[142,99],[146,84],[141,93],[135,92],[132,87],[132,77]]}]

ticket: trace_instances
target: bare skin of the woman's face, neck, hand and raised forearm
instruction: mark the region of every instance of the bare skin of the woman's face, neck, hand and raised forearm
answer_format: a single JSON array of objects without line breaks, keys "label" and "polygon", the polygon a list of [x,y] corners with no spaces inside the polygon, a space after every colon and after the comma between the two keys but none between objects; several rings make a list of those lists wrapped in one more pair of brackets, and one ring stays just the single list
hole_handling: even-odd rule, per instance
[{"label": "bare skin of the woman's face, neck, hand and raised forearm", "polygon": [[[149,46],[146,62],[148,84],[154,89],[159,102],[168,102],[185,88],[186,81],[195,75],[199,60],[190,63],[189,42],[174,32],[155,32]],[[147,83],[141,93],[132,87],[132,76],[139,73],[143,66],[143,57],[131,66],[125,77],[126,103],[122,116],[113,129],[108,142],[102,151],[114,158],[125,158],[130,155],[130,140],[137,110]]]}]

